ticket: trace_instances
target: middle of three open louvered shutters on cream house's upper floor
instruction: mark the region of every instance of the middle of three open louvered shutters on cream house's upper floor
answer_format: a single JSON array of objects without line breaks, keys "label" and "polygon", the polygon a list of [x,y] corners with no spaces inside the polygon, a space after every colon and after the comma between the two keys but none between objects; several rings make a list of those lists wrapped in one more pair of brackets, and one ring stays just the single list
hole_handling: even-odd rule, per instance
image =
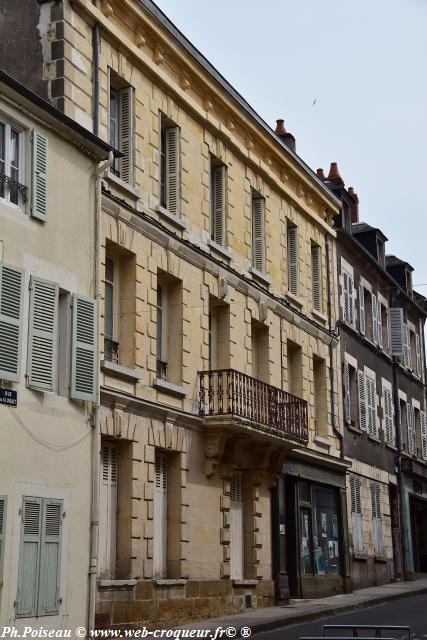
[{"label": "middle of three open louvered shutters on cream house's upper floor", "polygon": [[58,295],[55,282],[31,278],[27,383],[42,391],[57,387]]}]

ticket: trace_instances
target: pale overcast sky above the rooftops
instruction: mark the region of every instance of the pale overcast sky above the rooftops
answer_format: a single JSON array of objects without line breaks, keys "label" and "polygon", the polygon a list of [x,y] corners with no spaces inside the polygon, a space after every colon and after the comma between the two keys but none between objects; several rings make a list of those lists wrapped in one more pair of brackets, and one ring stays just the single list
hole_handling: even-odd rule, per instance
[{"label": "pale overcast sky above the rooftops", "polygon": [[307,164],[338,162],[360,219],[427,283],[427,0],[157,4]]}]

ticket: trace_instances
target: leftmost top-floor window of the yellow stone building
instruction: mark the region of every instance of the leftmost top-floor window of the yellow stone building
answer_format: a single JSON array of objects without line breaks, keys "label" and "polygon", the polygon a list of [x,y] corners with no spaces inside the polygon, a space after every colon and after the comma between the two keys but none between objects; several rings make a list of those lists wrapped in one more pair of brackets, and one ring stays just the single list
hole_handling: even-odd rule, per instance
[{"label": "leftmost top-floor window of the yellow stone building", "polygon": [[109,141],[123,154],[115,158],[112,172],[124,182],[133,183],[133,88],[123,86],[117,74],[110,71],[110,102],[108,114]]}]

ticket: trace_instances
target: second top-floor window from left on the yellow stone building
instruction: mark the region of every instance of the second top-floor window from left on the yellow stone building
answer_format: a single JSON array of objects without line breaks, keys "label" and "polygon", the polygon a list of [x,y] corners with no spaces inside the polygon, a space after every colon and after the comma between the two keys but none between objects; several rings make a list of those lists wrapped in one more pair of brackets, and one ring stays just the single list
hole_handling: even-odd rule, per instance
[{"label": "second top-floor window from left on the yellow stone building", "polygon": [[170,213],[180,214],[180,136],[169,118],[161,116],[160,204]]}]

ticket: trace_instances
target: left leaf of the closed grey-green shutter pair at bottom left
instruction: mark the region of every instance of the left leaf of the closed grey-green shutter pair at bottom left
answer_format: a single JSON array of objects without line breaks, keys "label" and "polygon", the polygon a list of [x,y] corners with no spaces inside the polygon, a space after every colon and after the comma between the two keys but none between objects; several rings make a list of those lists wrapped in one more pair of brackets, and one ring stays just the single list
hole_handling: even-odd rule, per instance
[{"label": "left leaf of the closed grey-green shutter pair at bottom left", "polygon": [[24,497],[22,500],[17,618],[35,616],[37,612],[42,507],[42,498]]}]

